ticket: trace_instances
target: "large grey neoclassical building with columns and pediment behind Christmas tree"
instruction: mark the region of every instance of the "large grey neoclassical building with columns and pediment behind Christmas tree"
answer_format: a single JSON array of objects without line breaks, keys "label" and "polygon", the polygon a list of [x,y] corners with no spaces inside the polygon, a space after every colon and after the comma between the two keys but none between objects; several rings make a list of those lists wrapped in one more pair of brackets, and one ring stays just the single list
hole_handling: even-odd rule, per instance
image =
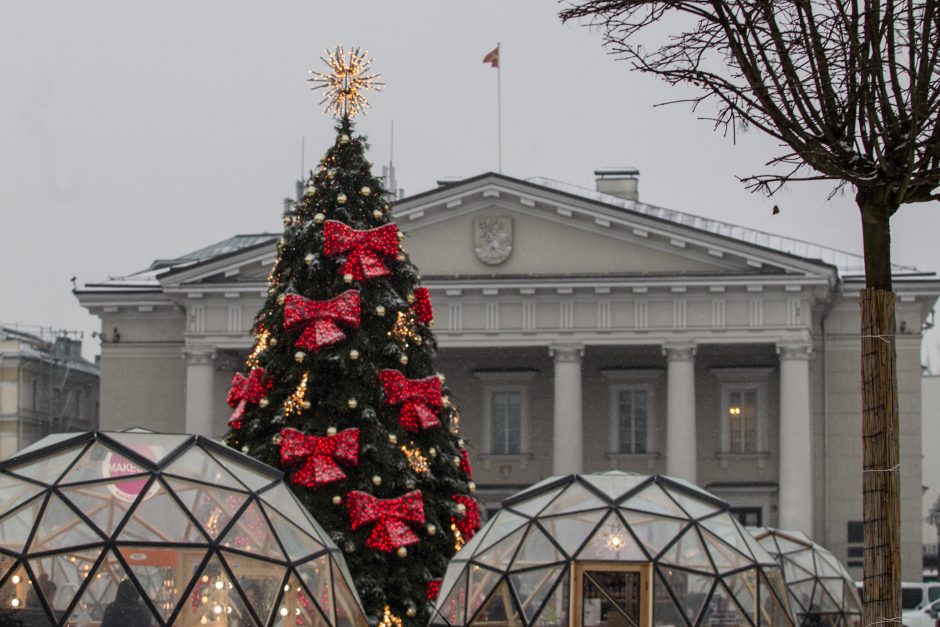
[{"label": "large grey neoclassical building with columns and pediment behind Christmas tree", "polygon": [[[861,566],[862,260],[597,188],[498,174],[395,203],[489,507],[560,473],[665,473]],[[224,432],[278,234],[237,235],[76,295],[102,321],[101,428]],[[921,560],[921,325],[897,267],[903,564]]]}]

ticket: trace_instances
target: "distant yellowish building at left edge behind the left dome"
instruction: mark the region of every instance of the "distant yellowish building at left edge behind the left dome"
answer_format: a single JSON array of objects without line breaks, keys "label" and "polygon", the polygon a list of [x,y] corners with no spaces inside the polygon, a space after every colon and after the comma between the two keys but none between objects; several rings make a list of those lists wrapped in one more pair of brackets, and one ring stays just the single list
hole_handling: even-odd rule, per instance
[{"label": "distant yellowish building at left edge behind the left dome", "polygon": [[100,377],[81,340],[0,325],[0,459],[50,433],[97,429]]}]

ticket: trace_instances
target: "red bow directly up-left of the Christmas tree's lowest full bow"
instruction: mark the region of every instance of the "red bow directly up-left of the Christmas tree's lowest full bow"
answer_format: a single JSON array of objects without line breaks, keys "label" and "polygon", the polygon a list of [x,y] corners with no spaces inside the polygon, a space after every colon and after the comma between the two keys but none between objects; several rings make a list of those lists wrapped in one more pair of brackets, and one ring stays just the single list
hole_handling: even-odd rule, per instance
[{"label": "red bow directly up-left of the Christmas tree's lowest full bow", "polygon": [[346,478],[336,464],[359,463],[359,429],[344,429],[336,435],[305,435],[296,429],[281,431],[281,463],[293,466],[303,462],[293,481],[308,488],[319,488]]}]

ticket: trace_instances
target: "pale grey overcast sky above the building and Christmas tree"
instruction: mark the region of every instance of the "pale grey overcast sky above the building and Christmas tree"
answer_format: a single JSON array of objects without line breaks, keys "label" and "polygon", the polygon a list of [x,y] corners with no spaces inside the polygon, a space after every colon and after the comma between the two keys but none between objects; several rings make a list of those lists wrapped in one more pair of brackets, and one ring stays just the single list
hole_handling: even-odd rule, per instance
[{"label": "pale grey overcast sky above the building and Christmas tree", "polygon": [[[735,145],[631,72],[551,0],[19,2],[0,19],[0,321],[85,332],[79,284],[237,233],[279,231],[281,201],[333,139],[307,70],[362,46],[387,83],[358,122],[380,173],[408,194],[495,170],[502,43],[503,173],[593,186],[634,166],[641,200],[857,252],[851,196],[797,184],[777,197],[735,178],[777,153]],[[781,213],[771,215],[778,204]],[[940,207],[902,208],[895,261],[940,270]]]}]

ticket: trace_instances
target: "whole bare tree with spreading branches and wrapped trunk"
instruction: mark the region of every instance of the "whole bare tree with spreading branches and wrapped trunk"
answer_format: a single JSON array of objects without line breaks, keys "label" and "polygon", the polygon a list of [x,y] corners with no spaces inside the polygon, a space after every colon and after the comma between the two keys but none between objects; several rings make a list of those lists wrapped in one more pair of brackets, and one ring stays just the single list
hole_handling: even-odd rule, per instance
[{"label": "whole bare tree with spreading branches and wrapped trunk", "polygon": [[[750,189],[854,189],[866,282],[864,624],[900,617],[890,220],[903,204],[940,199],[940,0],[574,0],[561,18],[600,29],[635,69],[694,88],[679,102],[714,103],[717,128],[778,140],[783,154],[744,179]],[[646,47],[646,35],[660,41]]]}]

